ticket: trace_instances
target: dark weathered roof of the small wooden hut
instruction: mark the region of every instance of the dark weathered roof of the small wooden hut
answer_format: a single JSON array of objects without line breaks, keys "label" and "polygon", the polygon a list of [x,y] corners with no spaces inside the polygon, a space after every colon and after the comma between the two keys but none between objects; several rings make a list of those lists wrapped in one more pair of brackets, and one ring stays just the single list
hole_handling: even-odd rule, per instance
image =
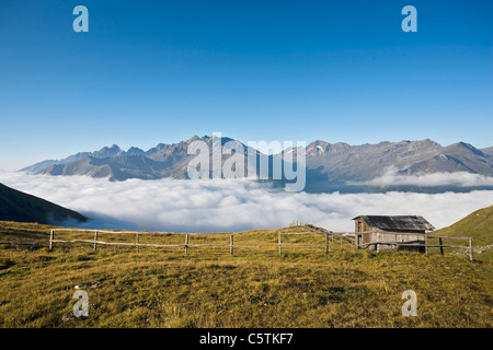
[{"label": "dark weathered roof of the small wooden hut", "polygon": [[423,217],[417,215],[359,215],[353,220],[363,219],[370,228],[399,231],[433,231],[435,228]]}]

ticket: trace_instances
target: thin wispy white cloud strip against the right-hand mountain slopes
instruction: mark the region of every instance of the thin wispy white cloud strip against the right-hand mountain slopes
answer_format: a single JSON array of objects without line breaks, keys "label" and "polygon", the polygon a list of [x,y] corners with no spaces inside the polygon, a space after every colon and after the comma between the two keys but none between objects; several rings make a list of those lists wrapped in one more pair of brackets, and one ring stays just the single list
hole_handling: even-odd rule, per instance
[{"label": "thin wispy white cloud strip against the right-hand mountain slopes", "polygon": [[385,175],[364,183],[353,185],[368,186],[420,186],[420,187],[493,187],[493,177],[467,172],[435,173],[421,175],[400,175],[395,170],[389,170]]}]

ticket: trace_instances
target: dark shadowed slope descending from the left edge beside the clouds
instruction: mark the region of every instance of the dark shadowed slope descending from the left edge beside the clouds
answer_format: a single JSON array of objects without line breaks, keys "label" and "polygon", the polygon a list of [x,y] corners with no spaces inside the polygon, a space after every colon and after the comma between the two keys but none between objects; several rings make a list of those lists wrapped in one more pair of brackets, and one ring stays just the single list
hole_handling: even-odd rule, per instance
[{"label": "dark shadowed slope descending from the left edge beside the clouds", "polygon": [[85,222],[88,218],[0,184],[0,221],[55,224],[68,220]]}]

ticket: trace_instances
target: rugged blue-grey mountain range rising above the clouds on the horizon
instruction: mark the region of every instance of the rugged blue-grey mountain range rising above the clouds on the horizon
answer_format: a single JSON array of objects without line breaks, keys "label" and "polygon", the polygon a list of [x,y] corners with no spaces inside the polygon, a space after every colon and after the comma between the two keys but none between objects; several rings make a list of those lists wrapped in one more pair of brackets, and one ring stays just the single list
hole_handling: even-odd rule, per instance
[{"label": "rugged blue-grey mountain range rising above the clouds on the horizon", "polygon": [[[144,151],[130,148],[123,151],[116,144],[103,148],[95,152],[81,152],[58,161],[43,161],[22,168],[22,172],[47,175],[88,175],[91,177],[107,177],[110,180],[125,180],[128,178],[158,179],[164,177],[185,179],[187,165],[196,158],[188,154],[188,147],[194,141],[204,141],[210,145],[210,159],[214,153],[213,140],[215,137],[193,137],[187,141],[173,144],[160,143]],[[221,138],[221,144],[239,144],[243,153],[221,152],[222,164],[230,158],[240,158],[248,170],[248,153],[251,148],[240,141]],[[256,149],[257,164],[266,161],[294,162],[300,148],[288,148],[282,152],[266,155]],[[493,189],[493,148],[475,149],[473,145],[458,142],[443,147],[432,140],[380,142],[377,144],[349,145],[347,143],[329,143],[314,141],[303,148],[306,153],[306,191],[468,191],[474,189]],[[230,155],[231,154],[231,155]],[[284,167],[283,167],[284,168]],[[437,173],[465,173],[486,176],[486,182],[454,184],[444,183],[434,185],[406,183],[371,183],[392,171],[398,178]],[[223,171],[225,172],[225,171]],[[246,171],[245,171],[246,173]],[[245,174],[246,175],[246,174]],[[283,174],[284,176],[284,174]],[[490,180],[489,177],[492,177]],[[273,180],[272,171],[268,179],[277,185],[287,183]]]}]

